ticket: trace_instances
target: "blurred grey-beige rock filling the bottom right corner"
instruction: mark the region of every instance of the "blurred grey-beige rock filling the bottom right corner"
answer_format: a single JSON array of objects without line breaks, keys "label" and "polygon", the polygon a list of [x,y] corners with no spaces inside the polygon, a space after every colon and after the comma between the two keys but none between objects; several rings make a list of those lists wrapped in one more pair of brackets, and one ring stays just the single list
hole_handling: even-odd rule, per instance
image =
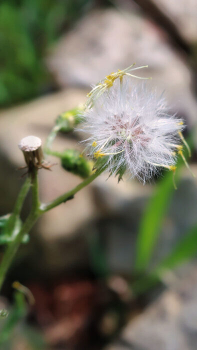
[{"label": "blurred grey-beige rock filling the bottom right corner", "polygon": [[176,283],[130,321],[105,350],[195,350],[197,273],[189,265]]}]

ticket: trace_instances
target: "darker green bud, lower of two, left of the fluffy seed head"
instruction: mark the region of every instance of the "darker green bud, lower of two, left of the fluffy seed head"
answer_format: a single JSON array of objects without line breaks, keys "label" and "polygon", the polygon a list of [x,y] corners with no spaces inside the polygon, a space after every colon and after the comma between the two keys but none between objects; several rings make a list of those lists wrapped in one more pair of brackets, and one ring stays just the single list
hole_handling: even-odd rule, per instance
[{"label": "darker green bud, lower of two, left of the fluffy seed head", "polygon": [[61,153],[60,158],[61,166],[65,170],[82,178],[86,178],[92,174],[93,162],[83,157],[78,150],[66,149]]}]

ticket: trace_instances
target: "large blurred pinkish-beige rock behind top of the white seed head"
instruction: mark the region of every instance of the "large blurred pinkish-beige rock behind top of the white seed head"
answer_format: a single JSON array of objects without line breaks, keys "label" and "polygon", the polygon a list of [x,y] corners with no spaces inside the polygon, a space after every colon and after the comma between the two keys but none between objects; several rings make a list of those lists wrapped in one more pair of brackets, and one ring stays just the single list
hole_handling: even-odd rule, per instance
[{"label": "large blurred pinkish-beige rock behind top of the white seed head", "polygon": [[167,34],[164,36],[134,8],[130,12],[94,10],[62,36],[48,54],[47,65],[59,86],[64,87],[89,86],[133,62],[148,64],[137,74],[152,76],[147,84],[156,87],[158,93],[165,90],[172,109],[193,124],[197,109],[190,91],[191,75],[166,40]]}]

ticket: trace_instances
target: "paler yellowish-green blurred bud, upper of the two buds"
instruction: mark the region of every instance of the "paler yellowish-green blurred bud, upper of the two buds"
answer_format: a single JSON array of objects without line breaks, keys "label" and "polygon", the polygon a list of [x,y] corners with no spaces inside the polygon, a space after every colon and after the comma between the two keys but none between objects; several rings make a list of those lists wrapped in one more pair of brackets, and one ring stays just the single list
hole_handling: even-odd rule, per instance
[{"label": "paler yellowish-green blurred bud, upper of the two buds", "polygon": [[82,117],[79,113],[83,110],[83,106],[78,106],[73,109],[69,109],[58,115],[55,124],[58,126],[59,131],[69,132],[72,131],[74,126],[82,121]]}]

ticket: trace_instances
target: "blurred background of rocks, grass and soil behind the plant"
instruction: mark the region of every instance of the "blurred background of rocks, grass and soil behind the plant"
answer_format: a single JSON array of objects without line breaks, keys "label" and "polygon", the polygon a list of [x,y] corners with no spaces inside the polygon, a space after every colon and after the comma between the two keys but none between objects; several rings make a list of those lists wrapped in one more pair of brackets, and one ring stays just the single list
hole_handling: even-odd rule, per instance
[{"label": "blurred background of rocks, grass and soil behind the plant", "polygon": [[[139,75],[185,120],[197,176],[196,19],[195,0],[1,0],[0,215],[23,181],[18,141],[44,142],[90,84],[133,62],[148,64]],[[80,149],[79,139],[60,134],[54,149]],[[177,190],[165,171],[144,186],[104,174],[44,214],[3,286],[0,348],[196,349],[197,182],[181,162],[177,172]],[[58,163],[39,181],[48,201],[80,178]],[[23,218],[29,207],[27,198]]]}]

